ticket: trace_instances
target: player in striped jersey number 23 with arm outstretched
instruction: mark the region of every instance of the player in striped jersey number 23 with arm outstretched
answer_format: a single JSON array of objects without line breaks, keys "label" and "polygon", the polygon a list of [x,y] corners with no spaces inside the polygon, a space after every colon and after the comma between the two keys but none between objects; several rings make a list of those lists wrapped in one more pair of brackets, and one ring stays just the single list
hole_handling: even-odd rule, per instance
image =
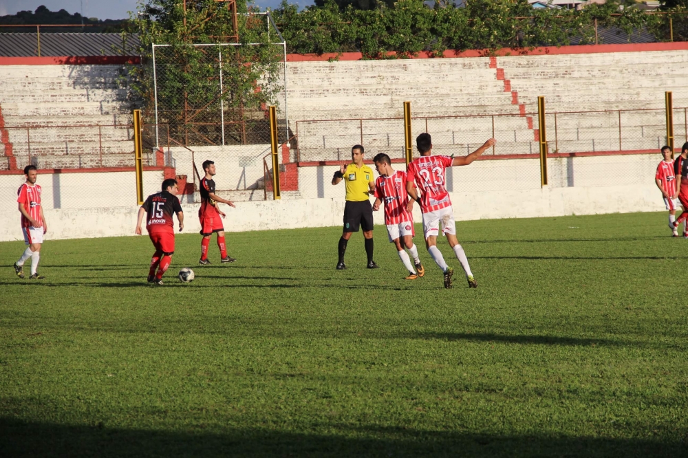
[{"label": "player in striped jersey number 23 with arm outstretched", "polygon": [[[437,248],[437,237],[440,232],[440,221],[442,222],[442,232],[447,236],[449,246],[454,250],[456,259],[464,269],[469,287],[477,287],[477,282],[473,278],[469,261],[466,253],[456,239],[456,228],[454,223],[454,213],[451,208],[451,199],[446,186],[447,167],[462,166],[471,164],[496,141],[494,138],[487,140],[480,148],[467,156],[449,157],[432,155],[432,139],[429,133],[421,133],[416,138],[416,146],[420,152],[418,159],[414,159],[409,164],[407,173],[406,189],[411,197],[407,205],[407,210],[413,210],[413,201],[420,203],[423,212],[423,232],[425,235],[425,246],[432,259],[444,272],[444,287],[451,288],[451,276],[454,270],[444,262],[442,253]],[[415,186],[414,186],[415,183]],[[416,190],[416,186],[418,190]],[[420,191],[420,200],[418,197]]]}]

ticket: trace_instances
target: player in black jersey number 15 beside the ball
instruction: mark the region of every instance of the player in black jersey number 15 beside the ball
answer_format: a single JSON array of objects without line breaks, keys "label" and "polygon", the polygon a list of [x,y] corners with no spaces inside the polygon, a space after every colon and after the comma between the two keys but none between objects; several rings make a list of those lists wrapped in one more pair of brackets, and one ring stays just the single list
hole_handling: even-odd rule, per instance
[{"label": "player in black jersey number 15 beside the ball", "polygon": [[[177,181],[168,178],[162,182],[162,192],[151,194],[138,209],[138,221],[136,221],[136,233],[141,235],[141,222],[146,213],[146,229],[151,237],[155,253],[151,259],[151,270],[148,272],[148,283],[162,285],[162,275],[169,268],[174,254],[174,223],[172,215],[177,214],[179,230],[184,229],[184,213],[179,199]],[[155,269],[158,273],[155,274]]]}]

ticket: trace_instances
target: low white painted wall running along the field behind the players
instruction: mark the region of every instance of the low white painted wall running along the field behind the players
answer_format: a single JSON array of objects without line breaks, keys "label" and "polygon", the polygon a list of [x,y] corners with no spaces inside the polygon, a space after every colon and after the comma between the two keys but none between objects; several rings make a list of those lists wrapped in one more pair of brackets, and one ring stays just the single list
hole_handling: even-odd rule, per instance
[{"label": "low white painted wall running along the field behind the players", "polygon": [[[660,211],[664,205],[654,184],[657,156],[550,160],[551,184],[544,189],[539,186],[537,160],[481,161],[456,167],[449,179],[455,216],[461,221]],[[344,185],[332,186],[335,169],[299,168],[303,199],[236,202],[237,208],[226,208],[226,230],[340,226]],[[22,181],[21,175],[0,175],[1,195],[16,195]],[[131,204],[136,199],[133,172],[39,175],[38,182],[50,228],[47,240],[133,235],[137,212]],[[161,182],[162,172],[146,172],[144,193],[157,192]],[[10,198],[0,202],[0,241],[21,239],[17,204]],[[186,233],[200,230],[198,206],[182,201]],[[420,221],[418,206],[415,211]],[[375,221],[383,224],[383,212],[375,214]]]}]

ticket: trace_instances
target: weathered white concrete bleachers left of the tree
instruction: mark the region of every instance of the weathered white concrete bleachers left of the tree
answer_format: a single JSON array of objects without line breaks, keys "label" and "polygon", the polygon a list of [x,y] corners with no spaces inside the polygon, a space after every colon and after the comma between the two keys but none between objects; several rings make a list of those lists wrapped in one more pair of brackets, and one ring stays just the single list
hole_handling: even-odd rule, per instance
[{"label": "weathered white concrete bleachers left of the tree", "polygon": [[0,151],[17,168],[133,166],[127,86],[122,65],[0,65]]}]

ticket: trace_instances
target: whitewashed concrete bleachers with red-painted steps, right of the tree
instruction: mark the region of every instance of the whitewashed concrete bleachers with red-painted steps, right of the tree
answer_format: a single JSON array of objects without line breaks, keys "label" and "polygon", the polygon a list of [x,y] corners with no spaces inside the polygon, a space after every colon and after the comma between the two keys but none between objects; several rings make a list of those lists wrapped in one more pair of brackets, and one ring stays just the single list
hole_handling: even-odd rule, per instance
[{"label": "whitewashed concrete bleachers with red-painted steps, right of the tree", "polygon": [[[429,118],[436,151],[471,151],[493,135],[495,153],[537,153],[537,96],[546,111],[654,110],[621,112],[621,148],[656,149],[666,142],[664,93],[674,93],[676,138],[683,134],[688,106],[685,50],[600,52],[541,56],[436,58],[391,61],[290,62],[290,127],[300,120],[400,118],[402,102],[413,116]],[[503,116],[510,115],[510,116]],[[413,120],[413,134],[425,130]],[[533,125],[535,124],[535,125]],[[619,151],[619,113],[548,116],[550,152]],[[363,124],[363,144],[371,151],[402,157],[403,124]],[[683,135],[680,135],[682,142]],[[392,146],[388,146],[394,139]],[[361,142],[358,121],[299,122],[302,161],[333,160]],[[556,144],[556,146],[555,146]]]}]

